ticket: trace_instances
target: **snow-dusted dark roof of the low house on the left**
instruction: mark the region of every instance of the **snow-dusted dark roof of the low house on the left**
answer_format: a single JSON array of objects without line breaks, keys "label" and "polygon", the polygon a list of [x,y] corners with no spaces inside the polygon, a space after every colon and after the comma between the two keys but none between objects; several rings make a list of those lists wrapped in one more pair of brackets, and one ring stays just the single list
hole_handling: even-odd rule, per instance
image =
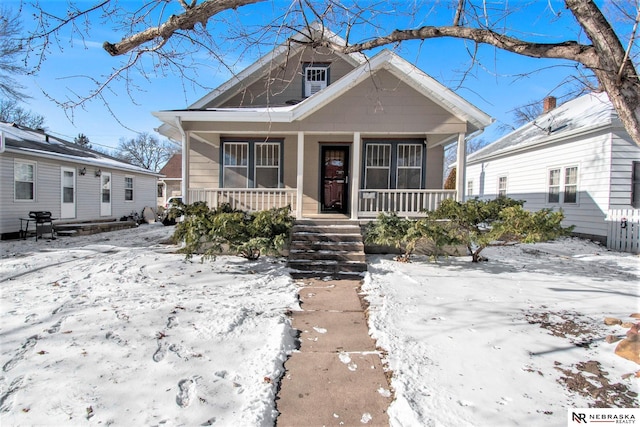
[{"label": "snow-dusted dark roof of the low house on the left", "polygon": [[115,157],[65,141],[53,135],[48,135],[41,130],[0,122],[0,132],[2,132],[5,151],[7,152],[159,176],[159,174],[148,169],[123,162]]}]

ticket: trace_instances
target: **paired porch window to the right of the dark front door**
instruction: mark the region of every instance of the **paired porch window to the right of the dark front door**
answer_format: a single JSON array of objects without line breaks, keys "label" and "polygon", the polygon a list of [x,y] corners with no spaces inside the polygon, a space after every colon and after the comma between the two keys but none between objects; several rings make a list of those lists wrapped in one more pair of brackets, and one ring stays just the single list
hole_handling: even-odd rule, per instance
[{"label": "paired porch window to the right of the dark front door", "polygon": [[418,189],[424,184],[424,145],[411,141],[364,144],[363,188]]}]

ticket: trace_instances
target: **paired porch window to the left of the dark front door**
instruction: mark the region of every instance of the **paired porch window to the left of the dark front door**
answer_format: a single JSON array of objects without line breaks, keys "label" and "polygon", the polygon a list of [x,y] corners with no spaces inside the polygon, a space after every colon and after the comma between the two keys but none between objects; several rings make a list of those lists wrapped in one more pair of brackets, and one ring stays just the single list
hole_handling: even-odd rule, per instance
[{"label": "paired porch window to the left of the dark front door", "polygon": [[223,188],[280,188],[282,142],[223,142]]}]

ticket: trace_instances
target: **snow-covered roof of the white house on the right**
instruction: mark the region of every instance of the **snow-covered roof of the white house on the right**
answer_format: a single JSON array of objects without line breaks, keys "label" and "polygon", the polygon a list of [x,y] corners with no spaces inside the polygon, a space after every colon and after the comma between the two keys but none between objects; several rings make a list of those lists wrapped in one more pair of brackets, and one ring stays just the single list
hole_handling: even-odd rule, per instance
[{"label": "snow-covered roof of the white house on the right", "polygon": [[559,142],[567,138],[612,126],[616,111],[605,92],[589,93],[542,114],[513,132],[472,153],[467,164],[491,157]]}]

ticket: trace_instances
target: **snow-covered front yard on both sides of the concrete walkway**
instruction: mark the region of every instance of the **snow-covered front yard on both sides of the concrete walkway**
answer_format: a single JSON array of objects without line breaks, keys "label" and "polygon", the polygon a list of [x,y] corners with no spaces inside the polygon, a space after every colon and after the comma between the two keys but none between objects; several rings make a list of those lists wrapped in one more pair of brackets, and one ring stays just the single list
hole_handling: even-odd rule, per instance
[{"label": "snow-covered front yard on both sides of the concrete walkway", "polygon": [[[0,424],[273,425],[296,284],[283,260],[186,261],[172,231],[0,242]],[[604,340],[626,329],[603,320],[640,311],[639,258],[575,239],[486,255],[370,258],[392,425],[563,426],[568,407],[637,407],[640,367]]]}]

